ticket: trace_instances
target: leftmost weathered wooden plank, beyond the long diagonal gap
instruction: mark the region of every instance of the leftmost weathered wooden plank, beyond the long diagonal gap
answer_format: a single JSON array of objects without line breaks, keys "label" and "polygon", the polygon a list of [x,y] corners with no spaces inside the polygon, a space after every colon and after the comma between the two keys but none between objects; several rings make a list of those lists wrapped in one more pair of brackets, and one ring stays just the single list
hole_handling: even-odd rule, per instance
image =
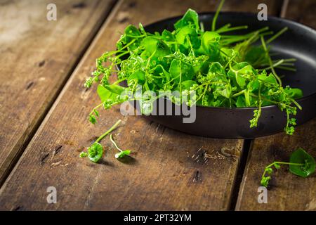
[{"label": "leftmost weathered wooden plank, beyond the long diagonal gap", "polygon": [[0,3],[0,185],[114,3],[54,2]]}]

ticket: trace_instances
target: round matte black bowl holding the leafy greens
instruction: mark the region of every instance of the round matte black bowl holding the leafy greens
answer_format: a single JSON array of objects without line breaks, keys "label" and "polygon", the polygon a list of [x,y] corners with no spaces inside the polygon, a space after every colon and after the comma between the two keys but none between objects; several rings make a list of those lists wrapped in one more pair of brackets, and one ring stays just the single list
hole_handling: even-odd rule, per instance
[{"label": "round matte black bowl holding the leafy greens", "polygon": [[[199,20],[204,23],[205,30],[211,27],[214,13],[201,13]],[[173,24],[181,17],[169,18],[145,26],[147,32],[162,32],[164,29],[173,30]],[[296,58],[296,72],[277,71],[284,75],[284,85],[303,90],[303,98],[297,100],[302,106],[298,110],[296,120],[298,125],[316,116],[316,31],[310,27],[281,18],[268,17],[266,21],[259,21],[254,13],[220,13],[217,27],[227,23],[232,26],[248,25],[243,32],[258,30],[268,26],[273,32],[289,27],[289,30],[272,41],[271,51],[278,54],[278,58]],[[236,32],[235,32],[236,34]],[[178,108],[178,105],[173,105]],[[279,110],[277,105],[262,107],[262,114],[258,120],[258,127],[250,128],[249,120],[256,108],[214,108],[197,106],[196,120],[193,123],[183,123],[184,115],[149,115],[148,119],[163,124],[171,129],[183,131],[187,134],[207,136],[223,139],[253,139],[284,131],[286,113]],[[295,134],[294,134],[295,135]]]}]

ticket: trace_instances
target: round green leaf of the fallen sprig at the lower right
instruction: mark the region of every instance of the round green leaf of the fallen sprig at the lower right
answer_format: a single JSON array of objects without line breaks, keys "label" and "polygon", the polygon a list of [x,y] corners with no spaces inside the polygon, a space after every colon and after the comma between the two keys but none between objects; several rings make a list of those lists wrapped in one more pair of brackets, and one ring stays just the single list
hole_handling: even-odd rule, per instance
[{"label": "round green leaf of the fallen sprig at the lower right", "polygon": [[315,172],[315,159],[305,152],[303,148],[292,153],[290,163],[302,163],[303,165],[290,165],[289,170],[292,174],[306,177]]}]

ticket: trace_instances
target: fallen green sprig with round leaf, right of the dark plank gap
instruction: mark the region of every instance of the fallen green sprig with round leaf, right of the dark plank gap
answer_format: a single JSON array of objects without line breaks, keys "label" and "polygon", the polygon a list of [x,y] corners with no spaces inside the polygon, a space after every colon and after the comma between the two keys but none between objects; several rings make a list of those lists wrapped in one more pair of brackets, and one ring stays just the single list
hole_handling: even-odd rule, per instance
[{"label": "fallen green sprig with round leaf, right of the dark plank gap", "polygon": [[280,169],[281,165],[289,165],[289,171],[297,176],[307,177],[315,172],[315,159],[305,152],[303,148],[298,148],[292,153],[289,162],[272,162],[265,167],[265,171],[261,177],[261,185],[268,187],[269,181],[272,179],[273,167]]}]

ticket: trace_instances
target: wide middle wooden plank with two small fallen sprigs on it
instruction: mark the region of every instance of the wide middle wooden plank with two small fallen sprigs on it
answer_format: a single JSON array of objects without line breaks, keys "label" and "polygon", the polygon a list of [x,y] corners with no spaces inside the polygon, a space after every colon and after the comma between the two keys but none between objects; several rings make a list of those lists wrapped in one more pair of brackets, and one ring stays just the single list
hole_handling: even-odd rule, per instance
[{"label": "wide middle wooden plank with two small fallen sprigs on it", "polygon": [[[256,11],[256,4],[248,1],[226,4],[225,10]],[[129,23],[147,24],[180,15],[187,8],[212,11],[214,7],[206,0],[117,4],[2,186],[0,210],[228,210],[242,140],[182,134],[142,117],[123,117],[119,108],[101,112],[93,126],[86,116],[98,103],[96,87],[88,91],[82,87],[95,58],[114,49],[119,32]],[[106,148],[102,163],[80,159],[79,152],[93,136],[118,119],[124,124],[114,131],[115,138],[120,146],[133,150],[133,160],[115,160],[108,138],[102,141]],[[46,202],[48,186],[58,191],[56,204]]]}]

